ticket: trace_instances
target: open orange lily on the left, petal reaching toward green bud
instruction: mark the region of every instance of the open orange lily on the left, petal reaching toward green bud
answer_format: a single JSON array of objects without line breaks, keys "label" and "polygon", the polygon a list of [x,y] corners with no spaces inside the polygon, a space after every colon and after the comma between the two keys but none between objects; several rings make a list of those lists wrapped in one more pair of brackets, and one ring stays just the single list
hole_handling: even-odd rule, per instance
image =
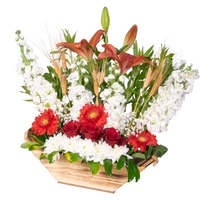
[{"label": "open orange lily on the left, petal reaching toward green bud", "polygon": [[[60,42],[56,44],[56,47],[69,48],[71,51],[76,52],[82,56],[86,61],[91,61],[93,56],[93,50],[96,48],[97,43],[100,41],[101,36],[105,33],[105,30],[98,30],[88,42],[86,39],[82,39],[78,43]],[[91,49],[91,48],[92,49]]]}]

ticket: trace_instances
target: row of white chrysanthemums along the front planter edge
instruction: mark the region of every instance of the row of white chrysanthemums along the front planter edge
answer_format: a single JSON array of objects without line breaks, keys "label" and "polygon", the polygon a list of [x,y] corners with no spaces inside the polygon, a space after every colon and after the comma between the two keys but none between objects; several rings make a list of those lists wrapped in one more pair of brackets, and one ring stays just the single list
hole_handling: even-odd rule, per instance
[{"label": "row of white chrysanthemums along the front planter edge", "polygon": [[[121,155],[127,155],[129,149],[126,146],[115,145],[111,147],[106,142],[92,142],[89,139],[82,139],[80,136],[68,138],[59,133],[46,140],[46,147],[43,153],[49,155],[54,151],[63,151],[63,153],[78,153],[86,161],[100,162],[103,165],[105,159],[112,160],[112,163],[118,161]],[[53,157],[53,161],[59,159],[59,153]]]}]

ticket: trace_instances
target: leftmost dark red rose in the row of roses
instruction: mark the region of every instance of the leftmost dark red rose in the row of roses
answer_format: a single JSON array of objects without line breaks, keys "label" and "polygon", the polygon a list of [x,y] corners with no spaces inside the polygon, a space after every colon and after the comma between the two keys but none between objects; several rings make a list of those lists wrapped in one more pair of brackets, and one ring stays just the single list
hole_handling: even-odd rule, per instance
[{"label": "leftmost dark red rose in the row of roses", "polygon": [[63,125],[61,132],[69,138],[77,136],[80,132],[80,123],[76,121],[70,121]]}]

